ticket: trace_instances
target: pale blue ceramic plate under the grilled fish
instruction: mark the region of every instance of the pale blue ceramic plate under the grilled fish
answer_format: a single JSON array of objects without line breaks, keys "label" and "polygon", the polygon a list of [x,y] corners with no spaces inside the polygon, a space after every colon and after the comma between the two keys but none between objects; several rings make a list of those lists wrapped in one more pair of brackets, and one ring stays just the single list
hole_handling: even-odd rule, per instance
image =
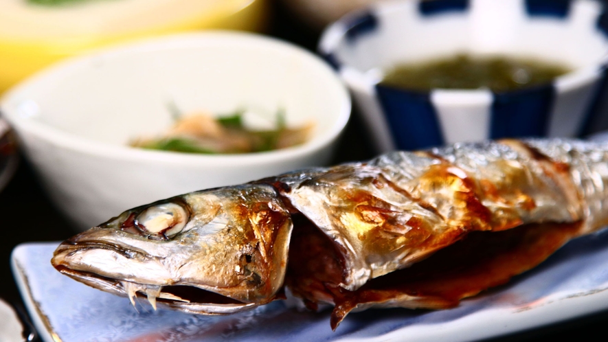
[{"label": "pale blue ceramic plate under the grilled fish", "polygon": [[329,312],[275,301],[212,317],[154,311],[146,302],[89,288],[53,269],[58,243],[21,244],[12,268],[27,310],[51,341],[471,341],[555,323],[608,308],[608,230],[578,238],[508,285],[451,310],[368,310],[335,332]]}]

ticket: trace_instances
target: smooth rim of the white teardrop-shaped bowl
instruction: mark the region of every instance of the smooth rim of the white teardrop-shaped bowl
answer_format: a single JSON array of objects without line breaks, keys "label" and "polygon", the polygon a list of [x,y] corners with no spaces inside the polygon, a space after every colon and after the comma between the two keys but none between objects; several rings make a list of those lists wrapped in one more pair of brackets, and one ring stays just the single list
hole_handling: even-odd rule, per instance
[{"label": "smooth rim of the white teardrop-shaped bowl", "polygon": [[[331,82],[331,87],[339,93],[340,113],[338,113],[335,122],[330,130],[323,135],[311,137],[304,144],[284,148],[280,150],[271,150],[267,152],[252,152],[235,155],[203,155],[190,154],[170,151],[144,150],[142,148],[134,148],[131,146],[120,146],[107,144],[95,139],[82,137],[74,133],[55,128],[54,126],[16,115],[14,111],[8,110],[8,104],[11,100],[19,98],[23,93],[27,93],[38,82],[43,82],[47,78],[55,77],[61,73],[68,73],[71,70],[78,69],[82,65],[87,65],[91,60],[104,56],[112,58],[122,54],[131,54],[133,52],[153,52],[177,46],[188,46],[194,43],[220,43],[222,45],[257,45],[264,49],[279,49],[284,52],[295,54],[302,58],[306,64],[315,65],[322,73],[326,74],[327,80]],[[281,160],[293,160],[311,155],[313,152],[322,150],[328,147],[335,141],[344,131],[351,113],[350,94],[333,69],[319,56],[316,56],[308,50],[280,41],[277,38],[262,36],[249,32],[234,32],[229,30],[207,30],[205,32],[188,32],[180,34],[170,34],[153,38],[142,39],[141,41],[123,43],[113,45],[111,47],[103,47],[95,49],[85,55],[67,58],[58,62],[51,67],[47,67],[38,71],[33,76],[19,82],[0,98],[0,114],[14,128],[17,135],[20,132],[29,133],[36,137],[47,141],[66,150],[81,152],[85,155],[96,155],[106,157],[108,159],[137,159],[141,161],[155,161],[163,163],[177,163],[191,166],[210,166],[210,163],[221,163],[223,166],[247,166],[257,163],[272,163]]]}]

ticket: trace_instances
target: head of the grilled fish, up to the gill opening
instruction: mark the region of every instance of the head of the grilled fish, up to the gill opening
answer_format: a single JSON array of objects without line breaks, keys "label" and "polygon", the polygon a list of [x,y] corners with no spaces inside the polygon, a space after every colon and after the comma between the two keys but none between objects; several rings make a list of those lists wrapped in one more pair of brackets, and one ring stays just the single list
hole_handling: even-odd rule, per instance
[{"label": "head of the grilled fish, up to the gill opening", "polygon": [[127,210],[61,243],[51,262],[133,303],[230,313],[280,293],[292,228],[270,185],[223,187]]}]

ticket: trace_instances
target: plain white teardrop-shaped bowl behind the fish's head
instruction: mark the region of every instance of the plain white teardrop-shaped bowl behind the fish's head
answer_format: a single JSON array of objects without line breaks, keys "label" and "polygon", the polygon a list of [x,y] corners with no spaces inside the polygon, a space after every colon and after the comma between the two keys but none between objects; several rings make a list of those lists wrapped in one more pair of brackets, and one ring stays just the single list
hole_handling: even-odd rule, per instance
[{"label": "plain white teardrop-shaped bowl behind the fish's head", "polygon": [[[184,113],[282,107],[312,120],[301,146],[245,155],[131,148]],[[350,116],[348,91],[304,49],[254,34],[154,38],[61,62],[11,89],[0,109],[56,205],[85,229],[124,209],[328,163]]]}]

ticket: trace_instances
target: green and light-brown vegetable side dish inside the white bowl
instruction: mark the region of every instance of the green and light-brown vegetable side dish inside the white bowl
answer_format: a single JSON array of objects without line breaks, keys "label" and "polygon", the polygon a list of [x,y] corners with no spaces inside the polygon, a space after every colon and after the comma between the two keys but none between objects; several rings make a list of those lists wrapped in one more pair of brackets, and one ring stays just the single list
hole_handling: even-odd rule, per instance
[{"label": "green and light-brown vegetable side dish inside the white bowl", "polygon": [[207,155],[264,152],[303,144],[314,125],[289,128],[284,114],[278,111],[274,126],[266,130],[248,128],[242,112],[225,117],[198,113],[179,117],[161,137],[135,139],[131,146]]}]

